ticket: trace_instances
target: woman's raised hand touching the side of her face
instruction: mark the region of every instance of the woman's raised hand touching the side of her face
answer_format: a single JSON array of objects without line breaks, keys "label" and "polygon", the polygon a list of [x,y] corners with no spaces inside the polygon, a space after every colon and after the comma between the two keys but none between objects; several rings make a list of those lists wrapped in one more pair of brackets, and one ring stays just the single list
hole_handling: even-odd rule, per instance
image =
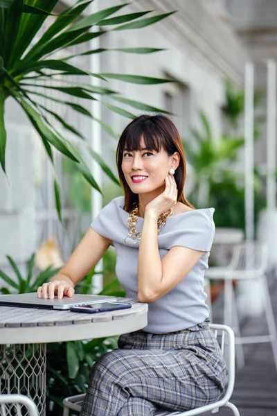
[{"label": "woman's raised hand touching the side of her face", "polygon": [[178,189],[174,175],[166,176],[166,189],[145,207],[145,215],[151,214],[157,218],[177,203]]}]

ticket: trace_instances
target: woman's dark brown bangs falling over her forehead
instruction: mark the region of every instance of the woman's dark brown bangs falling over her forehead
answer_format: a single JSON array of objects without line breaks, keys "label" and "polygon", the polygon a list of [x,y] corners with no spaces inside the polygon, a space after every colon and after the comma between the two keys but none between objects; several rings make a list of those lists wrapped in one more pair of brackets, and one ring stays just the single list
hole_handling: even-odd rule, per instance
[{"label": "woman's dark brown bangs falling over her forehead", "polygon": [[127,128],[125,140],[121,143],[120,151],[123,152],[124,149],[136,151],[147,148],[159,152],[161,148],[166,148],[166,139],[159,130],[159,126],[149,119],[141,123],[131,123]]}]

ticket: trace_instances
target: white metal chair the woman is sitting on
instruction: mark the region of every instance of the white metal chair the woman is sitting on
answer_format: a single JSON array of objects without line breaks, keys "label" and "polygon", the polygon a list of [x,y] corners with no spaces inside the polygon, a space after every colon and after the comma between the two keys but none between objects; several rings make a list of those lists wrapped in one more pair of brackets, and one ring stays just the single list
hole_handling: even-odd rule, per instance
[{"label": "white metal chair the woman is sitting on", "polygon": [[[233,393],[233,387],[235,383],[235,336],[233,330],[227,327],[226,325],[220,324],[210,324],[210,327],[215,331],[215,336],[217,337],[217,340],[221,338],[220,346],[223,353],[226,340],[228,341],[228,354],[227,356],[225,354],[225,356],[226,365],[229,370],[229,377],[223,397],[220,400],[215,401],[214,403],[207,404],[206,406],[201,406],[196,409],[186,410],[184,412],[167,412],[164,410],[159,410],[155,414],[156,416],[195,416],[201,415],[202,413],[207,412],[208,410],[210,410],[211,413],[217,413],[219,408],[223,406],[230,408],[235,416],[240,416],[238,408],[236,408],[234,404],[229,402],[229,399],[231,398],[231,395]],[[63,416],[69,416],[69,409],[75,410],[75,412],[80,412],[84,396],[85,395],[66,397],[63,400]]]}]

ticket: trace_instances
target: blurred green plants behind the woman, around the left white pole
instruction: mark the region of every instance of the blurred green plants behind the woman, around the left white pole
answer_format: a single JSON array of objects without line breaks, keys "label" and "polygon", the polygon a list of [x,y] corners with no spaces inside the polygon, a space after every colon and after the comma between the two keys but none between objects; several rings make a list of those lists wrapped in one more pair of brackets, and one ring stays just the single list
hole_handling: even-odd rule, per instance
[{"label": "blurred green plants behind the woman, around the left white pole", "polygon": [[[254,105],[259,110],[263,92],[255,92]],[[244,91],[226,82],[226,99],[223,107],[224,128],[215,138],[211,123],[200,110],[199,128],[192,128],[192,137],[183,141],[188,162],[195,171],[195,189],[190,201],[197,208],[214,207],[217,227],[245,228],[244,172],[238,169],[238,157],[244,146],[242,117]],[[255,117],[255,137],[260,138],[262,117]],[[258,168],[254,172],[255,220],[265,207],[264,178]]]}]

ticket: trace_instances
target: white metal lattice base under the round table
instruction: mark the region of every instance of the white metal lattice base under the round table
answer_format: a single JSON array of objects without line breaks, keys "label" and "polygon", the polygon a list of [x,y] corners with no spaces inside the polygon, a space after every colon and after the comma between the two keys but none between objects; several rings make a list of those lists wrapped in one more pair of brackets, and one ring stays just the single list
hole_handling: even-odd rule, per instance
[{"label": "white metal lattice base under the round table", "polygon": [[[45,392],[46,344],[0,345],[0,394],[26,395],[35,401],[39,415],[45,416]],[[11,407],[6,413],[14,415]]]}]

